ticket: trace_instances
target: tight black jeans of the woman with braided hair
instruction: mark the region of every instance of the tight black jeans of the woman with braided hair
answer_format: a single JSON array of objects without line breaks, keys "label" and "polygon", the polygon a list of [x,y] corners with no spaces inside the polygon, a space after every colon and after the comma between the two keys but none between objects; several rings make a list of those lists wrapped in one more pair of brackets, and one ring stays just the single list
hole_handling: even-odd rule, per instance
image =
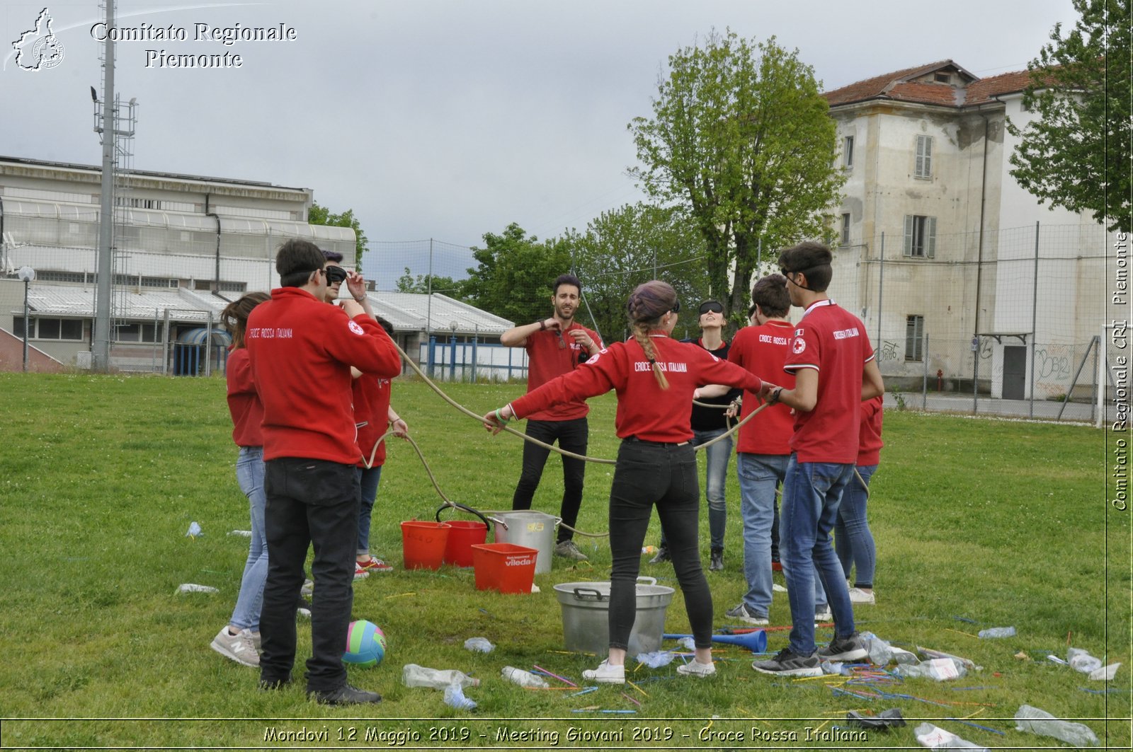
[{"label": "tight black jeans of the woman with braided hair", "polygon": [[654,505],[661,518],[676,581],[684,593],[692,639],[712,647],[712,593],[700,569],[700,487],[692,444],[653,444],[625,439],[617,450],[610,489],[610,647],[627,648],[637,617],[637,575],[641,544]]}]

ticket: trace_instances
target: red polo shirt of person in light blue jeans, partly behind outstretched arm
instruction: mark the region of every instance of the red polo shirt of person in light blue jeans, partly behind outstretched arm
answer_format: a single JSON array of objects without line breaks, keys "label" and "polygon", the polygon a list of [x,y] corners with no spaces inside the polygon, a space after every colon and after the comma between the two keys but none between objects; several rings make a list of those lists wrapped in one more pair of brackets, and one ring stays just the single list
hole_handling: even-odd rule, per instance
[{"label": "red polo shirt of person in light blue jeans, partly behind outstretched arm", "polygon": [[[746,326],[732,339],[727,359],[757,376],[766,376],[772,383],[783,369],[791,351],[794,324],[769,321],[761,326]],[[794,388],[794,375],[787,374],[780,386]],[[744,392],[740,418],[747,418],[761,404],[752,392]],[[791,435],[794,433],[794,416],[785,404],[773,404],[740,428],[738,452],[748,454],[790,454]]]}]

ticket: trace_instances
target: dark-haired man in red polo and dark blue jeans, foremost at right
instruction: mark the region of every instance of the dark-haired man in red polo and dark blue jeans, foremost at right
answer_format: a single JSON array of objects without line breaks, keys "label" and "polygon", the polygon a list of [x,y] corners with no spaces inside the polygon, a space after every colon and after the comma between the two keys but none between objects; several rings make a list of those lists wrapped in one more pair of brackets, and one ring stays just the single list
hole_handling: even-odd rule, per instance
[{"label": "dark-haired man in red polo and dark blue jeans, foremost at right", "polygon": [[[830,545],[842,490],[858,459],[858,421],[863,400],[884,393],[866,326],[826,294],[832,254],[803,242],[780,255],[791,304],[804,309],[794,327],[783,369],[794,388],[764,384],[760,396],[793,408],[791,458],[783,481],[780,555],[791,603],[791,639],[770,660],[752,668],[781,676],[818,676],[821,660],[867,655],[854,630],[853,606],[842,564]],[[815,649],[815,570],[834,613],[834,639]]]}]

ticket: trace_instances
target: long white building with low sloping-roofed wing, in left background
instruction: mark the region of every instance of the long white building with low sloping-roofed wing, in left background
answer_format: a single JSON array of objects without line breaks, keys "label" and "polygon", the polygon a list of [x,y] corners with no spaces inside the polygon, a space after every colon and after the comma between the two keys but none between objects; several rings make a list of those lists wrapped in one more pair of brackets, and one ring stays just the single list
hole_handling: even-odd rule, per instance
[{"label": "long white building with low sloping-roofed wing, in left background", "polygon": [[[63,366],[90,366],[100,181],[94,166],[0,157],[0,368],[20,367],[14,348],[23,344],[25,287],[16,272],[25,266],[36,274],[27,285],[29,345]],[[340,253],[353,267],[353,231],[308,224],[312,203],[307,188],[130,171],[116,191],[111,366],[212,370],[228,344],[220,311],[245,292],[278,287],[275,250],[288,239]],[[441,294],[372,297],[415,357],[436,331],[499,342],[511,326]],[[206,341],[211,348],[201,347]]]}]

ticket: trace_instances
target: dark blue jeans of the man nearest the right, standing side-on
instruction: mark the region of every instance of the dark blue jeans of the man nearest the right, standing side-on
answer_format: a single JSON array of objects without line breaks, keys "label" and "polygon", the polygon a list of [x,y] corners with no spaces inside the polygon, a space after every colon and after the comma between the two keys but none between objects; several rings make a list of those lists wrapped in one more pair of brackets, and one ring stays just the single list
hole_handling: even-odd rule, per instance
[{"label": "dark blue jeans of the man nearest the right, standing side-on", "polygon": [[838,516],[842,490],[853,478],[853,464],[799,462],[795,454],[786,465],[783,510],[780,515],[780,555],[791,601],[791,640],[796,656],[815,652],[815,570],[834,612],[834,633],[849,636],[854,631],[853,606],[842,564],[830,545],[830,530]]}]

